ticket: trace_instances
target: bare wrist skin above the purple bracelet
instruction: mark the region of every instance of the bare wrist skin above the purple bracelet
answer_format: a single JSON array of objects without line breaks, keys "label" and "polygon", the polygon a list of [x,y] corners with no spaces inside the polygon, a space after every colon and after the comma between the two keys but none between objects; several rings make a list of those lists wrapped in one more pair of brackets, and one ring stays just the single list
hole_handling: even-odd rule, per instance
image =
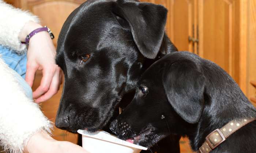
[{"label": "bare wrist skin above the purple bracelet", "polygon": [[35,23],[33,21],[28,21],[27,23],[25,23],[24,27],[20,31],[19,40],[21,42],[25,42],[26,36],[29,35],[30,32],[41,27],[42,26],[38,23]]}]

